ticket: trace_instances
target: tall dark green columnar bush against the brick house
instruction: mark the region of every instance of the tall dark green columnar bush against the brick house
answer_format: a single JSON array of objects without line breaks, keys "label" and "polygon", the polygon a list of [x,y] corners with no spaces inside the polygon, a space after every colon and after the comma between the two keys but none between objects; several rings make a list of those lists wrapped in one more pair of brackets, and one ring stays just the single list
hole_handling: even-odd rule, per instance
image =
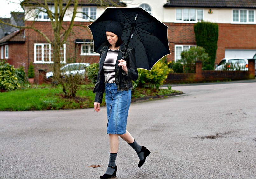
[{"label": "tall dark green columnar bush against the brick house", "polygon": [[198,22],[194,25],[197,46],[204,47],[209,59],[203,63],[204,70],[213,70],[218,41],[218,24],[211,22]]}]

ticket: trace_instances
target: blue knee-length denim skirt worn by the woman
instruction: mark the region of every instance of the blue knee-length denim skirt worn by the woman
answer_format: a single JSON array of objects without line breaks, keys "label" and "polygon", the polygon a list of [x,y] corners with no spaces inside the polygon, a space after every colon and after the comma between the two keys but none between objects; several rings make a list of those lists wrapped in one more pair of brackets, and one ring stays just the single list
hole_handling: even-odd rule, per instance
[{"label": "blue knee-length denim skirt worn by the woman", "polygon": [[117,91],[116,83],[105,83],[105,101],[107,107],[107,134],[125,134],[131,89]]}]

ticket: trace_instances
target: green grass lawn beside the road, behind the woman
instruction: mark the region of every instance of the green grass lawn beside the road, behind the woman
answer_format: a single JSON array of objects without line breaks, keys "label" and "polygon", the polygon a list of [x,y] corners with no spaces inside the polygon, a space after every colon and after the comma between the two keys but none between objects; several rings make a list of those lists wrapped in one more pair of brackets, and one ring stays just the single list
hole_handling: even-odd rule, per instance
[{"label": "green grass lawn beside the road, behind the woman", "polygon": [[[93,87],[93,85],[81,85],[75,98],[64,97],[60,86],[53,88],[51,85],[3,92],[0,93],[0,111],[93,108],[95,97]],[[136,88],[132,93],[132,99],[175,92],[177,91],[168,89]],[[101,105],[105,105],[104,96]]]}]

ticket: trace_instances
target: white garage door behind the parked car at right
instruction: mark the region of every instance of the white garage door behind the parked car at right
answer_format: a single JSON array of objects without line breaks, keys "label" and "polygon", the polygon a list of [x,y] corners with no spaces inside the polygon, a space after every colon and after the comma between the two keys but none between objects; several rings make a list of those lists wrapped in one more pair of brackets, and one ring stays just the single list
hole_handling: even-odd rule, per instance
[{"label": "white garage door behind the parked car at right", "polygon": [[253,58],[255,50],[234,50],[234,49],[226,49],[225,50],[225,58]]}]

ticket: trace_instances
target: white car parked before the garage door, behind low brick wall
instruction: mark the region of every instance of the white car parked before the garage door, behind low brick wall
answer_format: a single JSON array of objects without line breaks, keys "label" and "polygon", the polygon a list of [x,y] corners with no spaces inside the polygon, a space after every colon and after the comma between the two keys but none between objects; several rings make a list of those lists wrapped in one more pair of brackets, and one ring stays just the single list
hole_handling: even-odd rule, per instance
[{"label": "white car parked before the garage door, behind low brick wall", "polygon": [[233,64],[234,67],[239,68],[242,71],[248,71],[248,62],[245,58],[223,58],[216,66],[215,70],[221,71],[225,68],[231,68],[230,70],[236,70],[232,69],[230,65],[226,66],[227,63]]}]

